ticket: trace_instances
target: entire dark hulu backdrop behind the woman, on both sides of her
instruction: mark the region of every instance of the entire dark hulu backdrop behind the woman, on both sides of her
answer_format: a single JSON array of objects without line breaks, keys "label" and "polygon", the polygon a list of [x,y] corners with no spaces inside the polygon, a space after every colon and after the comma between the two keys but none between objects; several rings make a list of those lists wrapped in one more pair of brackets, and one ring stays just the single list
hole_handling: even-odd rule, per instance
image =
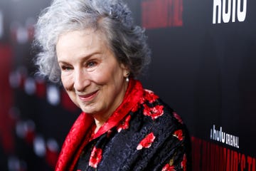
[{"label": "entire dark hulu backdrop behind the woman, on both sides of her", "polygon": [[[0,170],[53,170],[80,110],[34,76],[50,0],[0,0]],[[181,115],[193,170],[256,170],[256,1],[127,0],[152,61],[140,79]]]}]

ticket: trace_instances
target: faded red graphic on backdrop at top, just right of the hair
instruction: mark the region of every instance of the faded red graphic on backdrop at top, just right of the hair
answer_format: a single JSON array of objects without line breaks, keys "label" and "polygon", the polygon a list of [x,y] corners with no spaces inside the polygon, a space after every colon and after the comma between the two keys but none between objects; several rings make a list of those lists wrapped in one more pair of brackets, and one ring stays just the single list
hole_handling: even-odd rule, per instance
[{"label": "faded red graphic on backdrop at top, just right of the hair", "polygon": [[182,26],[183,0],[142,1],[142,26],[166,28]]}]

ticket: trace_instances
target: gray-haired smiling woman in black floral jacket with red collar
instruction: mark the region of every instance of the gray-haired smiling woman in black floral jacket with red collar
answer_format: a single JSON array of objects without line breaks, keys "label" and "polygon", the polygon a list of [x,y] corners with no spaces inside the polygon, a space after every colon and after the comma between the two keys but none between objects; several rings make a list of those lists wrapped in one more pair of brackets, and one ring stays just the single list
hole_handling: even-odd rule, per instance
[{"label": "gray-haired smiling woman in black floral jacket with red collar", "polygon": [[181,118],[136,80],[144,30],[120,0],[54,0],[36,24],[38,73],[61,82],[82,113],[55,170],[189,170]]}]

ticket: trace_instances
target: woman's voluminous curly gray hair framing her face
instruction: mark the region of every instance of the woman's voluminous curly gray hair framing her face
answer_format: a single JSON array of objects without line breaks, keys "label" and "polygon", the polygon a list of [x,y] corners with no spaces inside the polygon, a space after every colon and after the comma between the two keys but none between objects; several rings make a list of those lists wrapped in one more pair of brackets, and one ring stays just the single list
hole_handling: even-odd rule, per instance
[{"label": "woman's voluminous curly gray hair framing her face", "polygon": [[33,46],[38,48],[38,74],[60,82],[55,46],[61,34],[92,28],[101,31],[117,60],[131,77],[137,77],[150,62],[144,29],[135,26],[131,11],[121,0],[53,0],[39,15]]}]

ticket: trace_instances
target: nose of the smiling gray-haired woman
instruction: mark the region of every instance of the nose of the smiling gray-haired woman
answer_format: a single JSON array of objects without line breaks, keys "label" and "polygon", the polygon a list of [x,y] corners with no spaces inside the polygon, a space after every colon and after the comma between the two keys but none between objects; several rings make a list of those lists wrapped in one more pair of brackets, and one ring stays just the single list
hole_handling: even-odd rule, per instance
[{"label": "nose of the smiling gray-haired woman", "polygon": [[74,88],[76,91],[84,91],[90,85],[88,73],[82,69],[75,71]]}]

